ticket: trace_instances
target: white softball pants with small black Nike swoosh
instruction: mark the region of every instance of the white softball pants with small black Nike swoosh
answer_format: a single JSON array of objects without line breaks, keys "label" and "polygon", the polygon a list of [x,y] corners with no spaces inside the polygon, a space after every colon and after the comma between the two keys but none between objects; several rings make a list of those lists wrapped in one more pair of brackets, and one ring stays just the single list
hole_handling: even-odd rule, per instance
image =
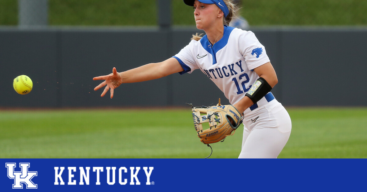
[{"label": "white softball pants with small black Nike swoosh", "polygon": [[291,133],[291,118],[276,99],[264,99],[244,112],[242,150],[238,158],[277,158]]}]

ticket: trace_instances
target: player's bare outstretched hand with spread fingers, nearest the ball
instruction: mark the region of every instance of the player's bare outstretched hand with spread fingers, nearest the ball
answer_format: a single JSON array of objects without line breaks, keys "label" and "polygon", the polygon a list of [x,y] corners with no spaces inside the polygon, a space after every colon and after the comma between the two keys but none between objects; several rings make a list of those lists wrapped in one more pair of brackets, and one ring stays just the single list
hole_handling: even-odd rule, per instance
[{"label": "player's bare outstretched hand with spread fingers, nearest the ball", "polygon": [[122,83],[122,76],[120,73],[116,71],[116,67],[114,67],[112,69],[112,74],[94,77],[93,80],[105,80],[104,82],[99,84],[97,87],[95,87],[94,90],[97,91],[98,89],[102,88],[103,86],[106,86],[101,94],[101,97],[105,96],[107,91],[110,89],[111,99],[112,99],[113,90],[116,87],[120,86],[120,84]]}]

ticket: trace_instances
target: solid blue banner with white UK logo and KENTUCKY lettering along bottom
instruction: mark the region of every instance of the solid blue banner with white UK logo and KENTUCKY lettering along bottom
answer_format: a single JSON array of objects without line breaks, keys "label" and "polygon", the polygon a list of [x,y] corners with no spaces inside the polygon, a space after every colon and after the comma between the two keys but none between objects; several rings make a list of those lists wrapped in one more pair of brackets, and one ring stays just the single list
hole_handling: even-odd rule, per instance
[{"label": "solid blue banner with white UK logo and KENTUCKY lettering along bottom", "polygon": [[0,159],[1,191],[365,191],[366,159]]}]

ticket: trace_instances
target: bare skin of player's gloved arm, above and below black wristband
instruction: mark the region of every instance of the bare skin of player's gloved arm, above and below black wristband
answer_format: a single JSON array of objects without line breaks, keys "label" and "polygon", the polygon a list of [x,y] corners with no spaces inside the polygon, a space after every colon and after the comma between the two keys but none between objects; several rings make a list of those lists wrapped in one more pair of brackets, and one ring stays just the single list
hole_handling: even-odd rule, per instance
[{"label": "bare skin of player's gloved arm, above and below black wristband", "polygon": [[[268,62],[254,69],[254,72],[259,75],[259,77],[264,78],[270,87],[274,87],[278,83],[278,78],[276,76],[273,65]],[[247,108],[253,105],[254,102],[250,97],[244,96],[239,102],[235,103],[233,106],[242,114]]]}]

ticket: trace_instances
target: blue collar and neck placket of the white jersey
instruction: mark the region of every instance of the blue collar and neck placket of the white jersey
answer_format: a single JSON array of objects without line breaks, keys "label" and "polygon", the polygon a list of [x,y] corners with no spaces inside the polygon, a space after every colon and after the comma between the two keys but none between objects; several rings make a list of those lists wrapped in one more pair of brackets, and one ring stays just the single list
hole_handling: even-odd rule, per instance
[{"label": "blue collar and neck placket of the white jersey", "polygon": [[209,46],[211,46],[207,35],[204,35],[203,38],[200,39],[200,43],[201,46],[203,46],[203,48],[211,54],[212,58],[213,58],[213,65],[217,63],[217,58],[215,57],[215,54],[217,54],[217,52],[219,50],[221,50],[222,48],[224,48],[224,46],[227,45],[228,43],[228,39],[229,39],[229,35],[232,32],[232,30],[235,29],[235,27],[228,27],[226,25],[224,25],[224,34],[223,37],[216,42],[211,48]]}]

